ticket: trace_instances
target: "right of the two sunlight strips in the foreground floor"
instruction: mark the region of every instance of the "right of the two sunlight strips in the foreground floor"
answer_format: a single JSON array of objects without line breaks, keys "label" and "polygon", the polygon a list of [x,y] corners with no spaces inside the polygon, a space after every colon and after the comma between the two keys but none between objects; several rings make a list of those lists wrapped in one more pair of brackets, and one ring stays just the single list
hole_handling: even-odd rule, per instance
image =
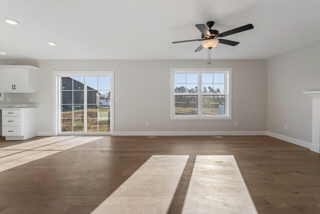
[{"label": "right of the two sunlight strips in the foreground floor", "polygon": [[257,213],[233,155],[197,155],[182,213]]}]

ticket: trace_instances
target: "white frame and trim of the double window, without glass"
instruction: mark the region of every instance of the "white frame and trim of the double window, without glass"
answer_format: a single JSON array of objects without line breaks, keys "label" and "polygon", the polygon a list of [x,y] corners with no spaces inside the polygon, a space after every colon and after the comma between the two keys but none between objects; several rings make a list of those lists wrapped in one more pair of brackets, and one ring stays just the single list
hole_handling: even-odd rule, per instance
[{"label": "white frame and trim of the double window, without glass", "polygon": [[[197,115],[174,115],[174,74],[176,73],[192,73],[198,74],[198,114]],[[202,111],[202,89],[201,74],[202,73],[224,73],[225,93],[225,110],[224,115],[201,115]],[[170,73],[170,119],[171,120],[231,120],[231,68],[171,68]],[[181,94],[192,95],[192,94]],[[220,94],[207,94],[220,95]]]}]

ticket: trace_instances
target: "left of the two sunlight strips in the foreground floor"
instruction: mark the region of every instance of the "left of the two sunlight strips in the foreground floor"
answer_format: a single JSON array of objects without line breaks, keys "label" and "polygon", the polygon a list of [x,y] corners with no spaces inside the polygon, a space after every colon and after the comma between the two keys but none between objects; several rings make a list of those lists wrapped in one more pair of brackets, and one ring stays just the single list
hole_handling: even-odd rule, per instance
[{"label": "left of the two sunlight strips in the foreground floor", "polygon": [[91,213],[168,210],[188,155],[152,155]]}]

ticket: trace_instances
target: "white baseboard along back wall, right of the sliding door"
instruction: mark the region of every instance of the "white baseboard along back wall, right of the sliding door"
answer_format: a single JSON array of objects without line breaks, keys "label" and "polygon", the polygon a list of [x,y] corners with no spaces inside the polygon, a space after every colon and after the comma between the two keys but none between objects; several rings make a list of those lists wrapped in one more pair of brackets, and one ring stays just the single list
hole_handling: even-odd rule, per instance
[{"label": "white baseboard along back wall, right of the sliding door", "polygon": [[114,131],[113,136],[266,135],[265,131]]}]

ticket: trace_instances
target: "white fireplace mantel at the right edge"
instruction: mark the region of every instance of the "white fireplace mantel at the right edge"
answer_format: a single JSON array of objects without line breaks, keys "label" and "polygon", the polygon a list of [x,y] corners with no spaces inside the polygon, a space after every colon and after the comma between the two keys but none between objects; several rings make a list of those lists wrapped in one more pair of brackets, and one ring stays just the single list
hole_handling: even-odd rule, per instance
[{"label": "white fireplace mantel at the right edge", "polygon": [[312,142],[310,150],[320,153],[320,91],[305,91],[312,98]]}]

